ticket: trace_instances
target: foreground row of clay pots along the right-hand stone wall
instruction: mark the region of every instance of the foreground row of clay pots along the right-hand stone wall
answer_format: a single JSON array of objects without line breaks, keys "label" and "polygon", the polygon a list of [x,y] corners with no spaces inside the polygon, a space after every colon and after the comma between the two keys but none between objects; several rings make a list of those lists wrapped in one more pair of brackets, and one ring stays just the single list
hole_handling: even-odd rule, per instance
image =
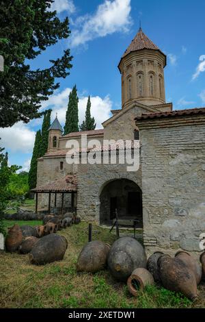
[{"label": "foreground row of clay pots along the right-hand stone wall", "polygon": [[153,285],[155,281],[193,300],[197,297],[202,269],[205,269],[204,254],[201,256],[202,268],[184,251],[176,253],[174,258],[158,251],[147,262],[143,247],[134,238],[119,238],[110,249],[105,243],[95,240],[83,247],[77,261],[77,271],[95,273],[108,266],[116,280],[127,280],[128,290],[135,296],[139,288]]}]

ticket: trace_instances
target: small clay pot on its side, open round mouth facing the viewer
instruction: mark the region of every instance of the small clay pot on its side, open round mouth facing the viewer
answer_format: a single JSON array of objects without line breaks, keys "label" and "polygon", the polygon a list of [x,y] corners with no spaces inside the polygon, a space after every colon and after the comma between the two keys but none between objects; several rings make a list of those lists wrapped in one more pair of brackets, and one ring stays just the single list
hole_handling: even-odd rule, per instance
[{"label": "small clay pot on its side, open round mouth facing the viewer", "polygon": [[128,290],[134,296],[137,296],[139,290],[143,290],[147,285],[154,285],[154,277],[147,269],[135,269],[128,277]]}]

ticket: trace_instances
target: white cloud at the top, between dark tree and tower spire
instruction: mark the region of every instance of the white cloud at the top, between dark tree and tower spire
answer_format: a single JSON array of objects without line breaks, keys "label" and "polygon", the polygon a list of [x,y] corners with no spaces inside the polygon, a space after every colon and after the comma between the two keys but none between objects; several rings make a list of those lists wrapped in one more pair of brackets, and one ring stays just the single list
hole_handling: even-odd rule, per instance
[{"label": "white cloud at the top, between dark tree and tower spire", "polygon": [[128,32],[131,26],[131,0],[105,0],[94,14],[79,16],[74,21],[70,46],[85,45],[98,37],[114,32]]}]

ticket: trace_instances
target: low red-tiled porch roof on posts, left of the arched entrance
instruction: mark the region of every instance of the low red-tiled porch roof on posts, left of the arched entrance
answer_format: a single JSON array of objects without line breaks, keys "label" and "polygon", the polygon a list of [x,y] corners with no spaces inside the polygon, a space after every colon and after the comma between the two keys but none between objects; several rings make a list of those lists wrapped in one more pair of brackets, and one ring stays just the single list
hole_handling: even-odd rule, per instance
[{"label": "low red-tiled porch roof on posts, left of the arched entrance", "polygon": [[77,192],[77,176],[76,175],[66,175],[62,179],[55,180],[44,186],[32,189],[33,192],[55,192],[55,193],[68,193]]}]

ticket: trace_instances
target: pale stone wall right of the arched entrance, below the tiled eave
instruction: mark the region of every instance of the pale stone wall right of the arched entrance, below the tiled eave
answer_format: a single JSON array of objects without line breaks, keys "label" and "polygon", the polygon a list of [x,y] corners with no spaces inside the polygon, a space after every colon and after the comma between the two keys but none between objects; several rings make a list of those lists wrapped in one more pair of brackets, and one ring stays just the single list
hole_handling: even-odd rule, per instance
[{"label": "pale stone wall right of the arched entrance, below the tiled eave", "polygon": [[200,251],[205,232],[205,117],[139,121],[148,252]]}]

